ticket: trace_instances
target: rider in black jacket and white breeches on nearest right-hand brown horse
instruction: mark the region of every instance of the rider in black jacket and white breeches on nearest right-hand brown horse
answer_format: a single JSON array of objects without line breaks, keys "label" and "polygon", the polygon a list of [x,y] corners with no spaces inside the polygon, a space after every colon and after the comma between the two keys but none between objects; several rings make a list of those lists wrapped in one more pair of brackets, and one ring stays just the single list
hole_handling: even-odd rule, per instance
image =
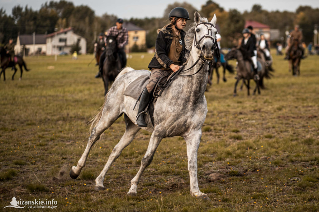
[{"label": "rider in black jacket and white breeches on nearest right-hand brown horse", "polygon": [[[243,29],[242,35],[244,36],[241,40],[241,48],[246,50],[247,58],[251,58],[254,65],[254,80],[259,80],[259,76],[257,73],[257,54],[255,54],[256,42],[254,38],[251,36],[248,28]],[[256,39],[256,37],[255,37]]]}]

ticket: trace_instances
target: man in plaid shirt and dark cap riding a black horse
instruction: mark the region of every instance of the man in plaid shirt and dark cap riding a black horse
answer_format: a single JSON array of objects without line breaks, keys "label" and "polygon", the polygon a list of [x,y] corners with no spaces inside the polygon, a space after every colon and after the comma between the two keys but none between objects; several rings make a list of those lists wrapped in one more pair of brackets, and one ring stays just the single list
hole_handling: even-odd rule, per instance
[{"label": "man in plaid shirt and dark cap riding a black horse", "polygon": [[[125,45],[128,44],[129,40],[129,34],[128,30],[124,27],[123,25],[123,19],[119,18],[116,20],[116,26],[112,26],[109,30],[108,33],[106,34],[107,36],[113,36],[116,37],[116,42],[117,42],[117,47],[118,47],[118,54],[120,56],[120,61],[122,68],[126,66],[126,53],[124,51]],[[106,43],[106,38],[104,38],[104,41]],[[103,62],[105,60],[105,52],[103,52],[100,56],[100,66],[99,66],[99,73],[95,76],[96,78],[101,76],[102,73],[102,68],[103,68]]]}]

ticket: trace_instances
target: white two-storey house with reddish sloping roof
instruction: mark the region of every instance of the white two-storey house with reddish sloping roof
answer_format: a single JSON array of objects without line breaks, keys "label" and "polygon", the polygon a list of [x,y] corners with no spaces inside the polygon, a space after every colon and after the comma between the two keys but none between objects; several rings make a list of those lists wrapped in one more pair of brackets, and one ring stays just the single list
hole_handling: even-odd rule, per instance
[{"label": "white two-storey house with reddish sloping roof", "polygon": [[71,46],[80,40],[81,51],[78,53],[86,54],[86,40],[84,37],[74,32],[72,27],[61,29],[46,35],[47,55],[59,54],[61,52],[70,53]]}]

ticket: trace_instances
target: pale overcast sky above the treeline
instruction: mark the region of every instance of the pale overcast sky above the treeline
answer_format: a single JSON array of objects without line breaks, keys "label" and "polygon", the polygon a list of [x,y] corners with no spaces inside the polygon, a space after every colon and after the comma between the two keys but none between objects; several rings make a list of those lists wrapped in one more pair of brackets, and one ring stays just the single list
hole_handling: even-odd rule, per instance
[{"label": "pale overcast sky above the treeline", "polygon": [[[56,0],[59,1],[59,0]],[[174,2],[188,2],[195,8],[200,10],[201,5],[207,0],[69,0],[75,5],[88,5],[95,11],[96,15],[101,16],[104,13],[114,14],[121,18],[145,18],[145,17],[162,17],[164,10],[168,4]],[[33,10],[39,10],[41,4],[48,0],[0,0],[0,7],[3,7],[7,14],[11,14],[12,8],[15,5],[28,5]],[[296,11],[300,5],[309,5],[313,8],[319,7],[319,0],[216,0],[221,7],[228,11],[229,9],[237,9],[241,12],[251,10],[254,4],[261,4],[263,9],[268,11]]]}]

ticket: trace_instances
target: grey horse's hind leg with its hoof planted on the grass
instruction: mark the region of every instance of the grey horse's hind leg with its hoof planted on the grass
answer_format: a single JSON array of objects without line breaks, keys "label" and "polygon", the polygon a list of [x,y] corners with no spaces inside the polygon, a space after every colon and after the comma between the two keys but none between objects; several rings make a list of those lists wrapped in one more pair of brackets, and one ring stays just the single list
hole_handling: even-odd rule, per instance
[{"label": "grey horse's hind leg with its hoof planted on the grass", "polygon": [[121,140],[117,145],[115,145],[114,149],[112,150],[110,156],[108,157],[108,162],[105,164],[103,170],[101,171],[100,175],[95,179],[95,190],[104,190],[103,182],[106,173],[108,172],[108,169],[112,165],[112,163],[117,159],[122,150],[127,147],[132,140],[134,139],[136,133],[141,129],[137,127],[133,122],[130,120],[130,118],[124,114],[124,120],[126,123],[126,131],[124,132],[124,135],[122,136]]}]

